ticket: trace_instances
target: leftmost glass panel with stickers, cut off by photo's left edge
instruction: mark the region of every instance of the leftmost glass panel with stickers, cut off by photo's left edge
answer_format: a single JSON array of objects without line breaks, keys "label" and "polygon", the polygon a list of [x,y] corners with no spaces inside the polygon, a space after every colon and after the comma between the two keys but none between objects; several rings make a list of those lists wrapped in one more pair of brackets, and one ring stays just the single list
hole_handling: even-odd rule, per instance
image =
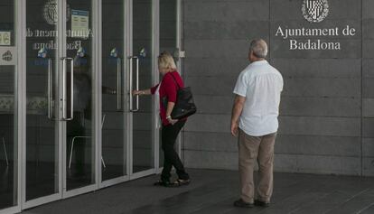
[{"label": "leftmost glass panel with stickers, cut off by photo's left edge", "polygon": [[15,8],[14,0],[0,3],[0,212],[19,204]]}]

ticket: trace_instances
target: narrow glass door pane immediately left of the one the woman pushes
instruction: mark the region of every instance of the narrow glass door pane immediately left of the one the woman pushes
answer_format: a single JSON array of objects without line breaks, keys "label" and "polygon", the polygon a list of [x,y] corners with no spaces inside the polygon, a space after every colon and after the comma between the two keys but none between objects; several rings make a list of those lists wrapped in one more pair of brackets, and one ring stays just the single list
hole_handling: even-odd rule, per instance
[{"label": "narrow glass door pane immediately left of the one the woman pushes", "polygon": [[124,1],[102,2],[102,180],[126,175],[124,88]]}]

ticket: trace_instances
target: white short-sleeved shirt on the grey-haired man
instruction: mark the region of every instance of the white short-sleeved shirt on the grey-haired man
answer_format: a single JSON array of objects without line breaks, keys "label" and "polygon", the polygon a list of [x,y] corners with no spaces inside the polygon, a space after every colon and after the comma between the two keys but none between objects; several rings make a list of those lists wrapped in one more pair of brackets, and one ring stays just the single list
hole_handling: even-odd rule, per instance
[{"label": "white short-sleeved shirt on the grey-haired man", "polygon": [[245,97],[239,128],[247,135],[262,136],[278,129],[283,78],[266,60],[252,62],[238,76],[234,93]]}]

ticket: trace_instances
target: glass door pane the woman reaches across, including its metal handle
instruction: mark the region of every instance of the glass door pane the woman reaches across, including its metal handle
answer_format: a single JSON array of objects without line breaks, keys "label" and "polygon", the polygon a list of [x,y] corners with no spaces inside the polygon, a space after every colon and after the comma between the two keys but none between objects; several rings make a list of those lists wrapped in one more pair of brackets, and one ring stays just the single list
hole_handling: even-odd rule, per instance
[{"label": "glass door pane the woman reaches across, including its metal handle", "polygon": [[[151,88],[154,78],[153,1],[133,1],[130,88]],[[154,170],[154,105],[151,96],[130,98],[132,173]]]}]

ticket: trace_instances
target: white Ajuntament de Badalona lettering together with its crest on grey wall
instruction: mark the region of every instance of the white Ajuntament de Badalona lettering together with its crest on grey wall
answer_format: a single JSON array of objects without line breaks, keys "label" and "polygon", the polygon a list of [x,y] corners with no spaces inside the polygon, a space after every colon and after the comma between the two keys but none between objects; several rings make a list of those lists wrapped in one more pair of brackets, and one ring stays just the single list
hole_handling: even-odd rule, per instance
[{"label": "white Ajuntament de Badalona lettering together with its crest on grey wall", "polygon": [[282,23],[275,28],[274,38],[283,39],[282,46],[289,51],[341,51],[346,38],[360,35],[354,24],[321,24],[329,14],[327,0],[303,0],[302,13],[310,23]]}]

